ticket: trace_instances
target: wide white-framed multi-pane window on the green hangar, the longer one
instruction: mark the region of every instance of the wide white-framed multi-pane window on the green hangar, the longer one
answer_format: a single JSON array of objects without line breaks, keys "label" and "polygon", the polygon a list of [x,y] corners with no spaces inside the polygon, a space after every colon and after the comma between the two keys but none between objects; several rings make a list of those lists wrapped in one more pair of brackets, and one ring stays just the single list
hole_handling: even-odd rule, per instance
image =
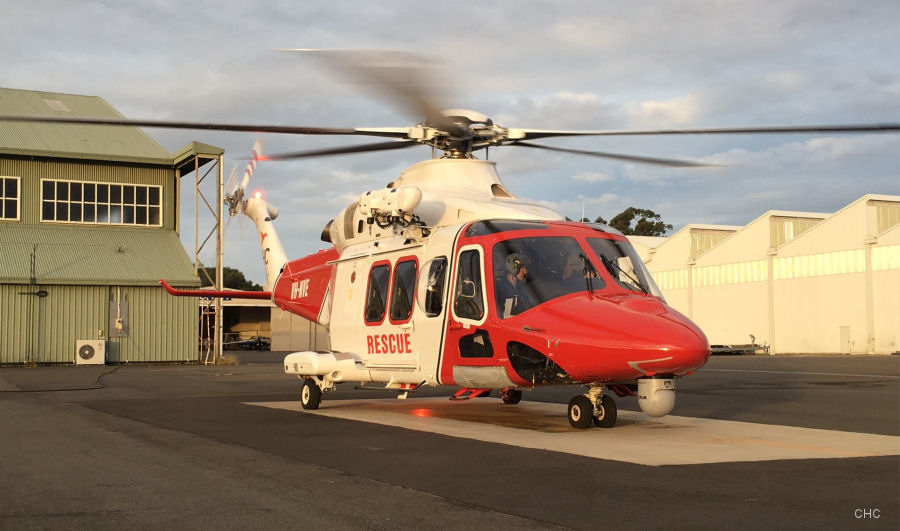
[{"label": "wide white-framed multi-pane window on the green hangar, the longer one", "polygon": [[41,221],[162,225],[162,187],[41,181]]}]

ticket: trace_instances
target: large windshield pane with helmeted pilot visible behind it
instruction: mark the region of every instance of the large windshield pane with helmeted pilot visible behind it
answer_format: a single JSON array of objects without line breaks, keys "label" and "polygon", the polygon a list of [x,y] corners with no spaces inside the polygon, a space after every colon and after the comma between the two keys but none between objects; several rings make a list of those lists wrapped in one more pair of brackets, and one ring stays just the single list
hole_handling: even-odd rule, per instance
[{"label": "large windshield pane with helmeted pilot visible behind it", "polygon": [[562,295],[606,286],[575,238],[567,236],[498,242],[492,258],[497,312],[504,319]]}]

